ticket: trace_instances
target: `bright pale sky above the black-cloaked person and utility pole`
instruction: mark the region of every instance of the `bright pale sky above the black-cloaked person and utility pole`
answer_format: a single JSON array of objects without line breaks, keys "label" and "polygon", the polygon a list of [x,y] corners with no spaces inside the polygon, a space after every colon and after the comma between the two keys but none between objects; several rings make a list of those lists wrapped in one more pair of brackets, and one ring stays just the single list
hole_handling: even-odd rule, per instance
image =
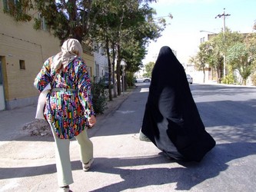
[{"label": "bright pale sky above the black-cloaked person and utility pole", "polygon": [[155,8],[156,17],[165,17],[171,13],[173,18],[165,18],[170,25],[161,33],[161,38],[148,45],[144,65],[155,61],[160,48],[165,45],[176,51],[181,64],[188,64],[189,58],[198,51],[200,39],[210,32],[222,30],[223,17],[215,17],[224,12],[230,14],[225,18],[226,28],[241,33],[256,32],[253,30],[256,20],[255,0],[158,0],[150,6]]}]

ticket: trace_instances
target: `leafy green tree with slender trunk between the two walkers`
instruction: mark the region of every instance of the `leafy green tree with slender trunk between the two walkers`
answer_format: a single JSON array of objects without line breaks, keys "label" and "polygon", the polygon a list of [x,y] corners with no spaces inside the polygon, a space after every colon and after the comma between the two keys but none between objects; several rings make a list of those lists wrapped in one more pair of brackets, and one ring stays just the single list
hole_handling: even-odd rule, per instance
[{"label": "leafy green tree with slender trunk between the two walkers", "polygon": [[[142,2],[142,1],[141,1]],[[145,45],[149,40],[161,36],[165,20],[155,22],[155,11],[148,4],[139,5],[137,0],[111,1],[108,6],[102,4],[102,12],[97,15],[93,25],[93,38],[106,45],[108,55],[112,56],[112,70],[116,71],[118,95],[121,94],[121,60],[125,60],[126,71],[134,71],[145,57]],[[109,59],[110,61],[110,59]],[[116,61],[116,62],[115,62]],[[108,65],[110,66],[110,64]]]}]

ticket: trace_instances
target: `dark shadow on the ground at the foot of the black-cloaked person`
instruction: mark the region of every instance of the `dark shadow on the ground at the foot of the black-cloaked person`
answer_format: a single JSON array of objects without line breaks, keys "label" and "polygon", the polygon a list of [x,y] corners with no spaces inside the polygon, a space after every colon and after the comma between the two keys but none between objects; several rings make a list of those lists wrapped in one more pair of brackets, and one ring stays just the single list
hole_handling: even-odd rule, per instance
[{"label": "dark shadow on the ground at the foot of the black-cloaked person", "polygon": [[[240,150],[243,149],[243,150]],[[171,161],[163,156],[140,158],[97,158],[92,169],[95,172],[118,174],[123,181],[92,191],[122,191],[151,185],[176,183],[175,190],[190,190],[204,180],[217,177],[227,170],[228,162],[256,154],[256,143],[218,144],[200,163]],[[149,167],[138,169],[138,165],[178,163],[181,166]],[[121,168],[125,167],[125,168]]]}]

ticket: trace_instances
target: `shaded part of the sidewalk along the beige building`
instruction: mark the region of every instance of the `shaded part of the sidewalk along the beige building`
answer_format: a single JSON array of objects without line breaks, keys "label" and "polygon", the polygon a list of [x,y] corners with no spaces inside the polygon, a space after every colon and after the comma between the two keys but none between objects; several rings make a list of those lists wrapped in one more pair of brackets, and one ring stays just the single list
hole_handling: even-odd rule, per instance
[{"label": "shaded part of the sidewalk along the beige building", "polygon": [[[97,123],[99,124],[111,111],[115,111],[128,98],[131,91],[132,89],[124,93],[122,92],[117,98],[113,98],[113,101],[108,101],[104,114],[97,115]],[[47,122],[35,119],[35,111],[36,105],[0,111],[0,141],[12,141],[15,140],[15,137],[28,135],[32,137],[52,136]]]}]

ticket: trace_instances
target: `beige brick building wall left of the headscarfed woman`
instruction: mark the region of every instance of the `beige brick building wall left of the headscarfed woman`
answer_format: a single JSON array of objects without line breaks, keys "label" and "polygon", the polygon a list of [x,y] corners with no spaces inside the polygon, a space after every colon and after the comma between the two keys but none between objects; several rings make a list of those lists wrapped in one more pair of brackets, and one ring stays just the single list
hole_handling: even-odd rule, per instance
[{"label": "beige brick building wall left of the headscarfed woman", "polygon": [[[36,104],[35,76],[43,62],[61,50],[58,38],[48,31],[35,31],[32,25],[32,22],[15,22],[14,18],[3,13],[0,2],[0,57],[6,109]],[[83,58],[94,74],[94,58],[85,54]],[[20,60],[25,61],[25,70],[20,69]]]}]

